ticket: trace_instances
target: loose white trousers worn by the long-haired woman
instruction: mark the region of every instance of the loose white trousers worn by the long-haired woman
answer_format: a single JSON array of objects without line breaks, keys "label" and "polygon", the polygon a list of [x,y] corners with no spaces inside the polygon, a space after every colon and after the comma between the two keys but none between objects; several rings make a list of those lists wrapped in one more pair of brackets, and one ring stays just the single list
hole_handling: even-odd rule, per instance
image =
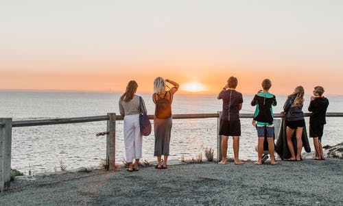
[{"label": "loose white trousers worn by the long-haired woman", "polygon": [[139,114],[124,116],[124,142],[126,162],[142,158],[142,139]]}]

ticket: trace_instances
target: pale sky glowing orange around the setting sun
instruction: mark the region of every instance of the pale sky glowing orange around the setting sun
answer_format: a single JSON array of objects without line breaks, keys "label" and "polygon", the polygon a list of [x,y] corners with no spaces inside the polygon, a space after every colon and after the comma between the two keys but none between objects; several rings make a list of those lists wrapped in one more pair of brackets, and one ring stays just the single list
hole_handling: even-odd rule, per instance
[{"label": "pale sky glowing orange around the setting sun", "polygon": [[0,90],[343,94],[343,1],[0,1]]}]

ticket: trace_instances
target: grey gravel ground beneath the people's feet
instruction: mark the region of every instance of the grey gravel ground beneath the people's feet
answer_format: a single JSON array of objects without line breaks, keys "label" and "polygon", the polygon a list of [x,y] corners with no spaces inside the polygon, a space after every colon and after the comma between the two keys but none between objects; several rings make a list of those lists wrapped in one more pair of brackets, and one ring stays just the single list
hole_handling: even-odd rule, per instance
[{"label": "grey gravel ground beneath the people's feet", "polygon": [[16,179],[0,205],[343,205],[342,159],[213,163]]}]

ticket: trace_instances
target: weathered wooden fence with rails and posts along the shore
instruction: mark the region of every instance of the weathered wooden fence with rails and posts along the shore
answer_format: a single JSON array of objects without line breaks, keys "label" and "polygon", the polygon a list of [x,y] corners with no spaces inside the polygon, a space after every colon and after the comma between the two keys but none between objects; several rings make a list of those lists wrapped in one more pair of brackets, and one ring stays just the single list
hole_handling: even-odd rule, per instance
[{"label": "weathered wooden fence with rails and posts along the shore", "polygon": [[[309,116],[310,113],[305,113]],[[150,120],[153,115],[148,115]],[[220,112],[211,114],[174,114],[173,119],[187,118],[217,118],[217,128],[219,129]],[[240,114],[241,118],[252,118],[253,114]],[[282,114],[274,114],[274,118],[282,118]],[[343,117],[343,112],[327,112],[327,117]],[[86,116],[77,118],[55,118],[42,120],[19,120],[12,121],[12,118],[0,118],[0,192],[10,188],[11,174],[11,147],[12,147],[12,127],[32,127],[43,125],[60,125],[74,123],[89,123],[96,121],[107,121],[106,136],[106,163],[108,169],[115,168],[115,126],[117,120],[123,120],[123,116],[115,113],[108,113],[104,116]],[[221,137],[217,135],[217,159],[222,158]]]}]

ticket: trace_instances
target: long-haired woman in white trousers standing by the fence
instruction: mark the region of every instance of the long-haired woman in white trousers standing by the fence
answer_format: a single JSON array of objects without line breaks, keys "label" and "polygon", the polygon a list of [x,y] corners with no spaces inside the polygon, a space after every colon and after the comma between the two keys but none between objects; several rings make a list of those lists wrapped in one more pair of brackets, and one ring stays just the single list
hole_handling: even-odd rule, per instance
[{"label": "long-haired woman in white trousers standing by the fence", "polygon": [[[124,116],[124,142],[126,161],[129,163],[128,171],[138,171],[139,159],[142,158],[142,138],[139,127],[139,96],[136,95],[138,84],[136,81],[129,81],[126,91],[119,99],[119,112]],[[147,111],[142,99],[142,110]],[[134,161],[134,165],[132,162]]]}]

